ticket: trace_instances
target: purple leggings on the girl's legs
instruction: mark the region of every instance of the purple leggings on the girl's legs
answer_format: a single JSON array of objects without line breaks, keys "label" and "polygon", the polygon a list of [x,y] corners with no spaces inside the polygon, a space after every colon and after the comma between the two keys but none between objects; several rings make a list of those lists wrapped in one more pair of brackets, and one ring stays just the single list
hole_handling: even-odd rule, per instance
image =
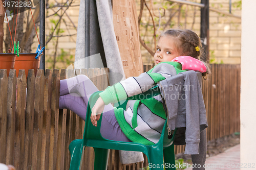
[{"label": "purple leggings on the girl's legs", "polygon": [[[99,90],[85,75],[60,80],[59,109],[69,109],[85,120],[88,99],[96,91]],[[104,107],[100,133],[105,139],[131,142],[122,132],[111,104]]]}]

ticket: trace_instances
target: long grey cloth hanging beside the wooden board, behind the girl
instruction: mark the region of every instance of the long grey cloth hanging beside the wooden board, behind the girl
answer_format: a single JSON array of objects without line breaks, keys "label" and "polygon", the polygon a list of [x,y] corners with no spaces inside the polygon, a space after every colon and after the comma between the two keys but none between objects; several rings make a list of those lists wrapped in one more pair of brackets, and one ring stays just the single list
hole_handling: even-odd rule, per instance
[{"label": "long grey cloth hanging beside the wooden board, behind the girl", "polygon": [[[89,3],[89,8],[86,8]],[[75,68],[110,68],[110,85],[125,79],[119,48],[113,26],[111,0],[86,0],[80,1],[78,30],[76,40]],[[90,18],[87,11],[90,9]],[[90,27],[86,28],[85,23]],[[89,29],[90,28],[90,29]],[[85,34],[89,29],[89,34]],[[88,30],[87,30],[88,31]],[[89,35],[87,37],[86,35]],[[89,38],[89,53],[86,51],[85,42]],[[89,54],[89,56],[88,56]],[[119,151],[122,164],[144,161],[141,152]]]}]

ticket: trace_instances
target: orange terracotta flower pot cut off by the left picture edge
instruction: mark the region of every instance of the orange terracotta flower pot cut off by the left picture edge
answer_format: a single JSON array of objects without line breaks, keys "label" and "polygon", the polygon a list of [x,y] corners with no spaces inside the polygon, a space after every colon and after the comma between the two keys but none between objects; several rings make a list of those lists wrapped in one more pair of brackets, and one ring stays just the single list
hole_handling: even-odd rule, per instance
[{"label": "orange terracotta flower pot cut off by the left picture edge", "polygon": [[12,53],[0,53],[0,69],[7,70],[7,76],[9,76],[10,69],[14,69],[16,54]]}]

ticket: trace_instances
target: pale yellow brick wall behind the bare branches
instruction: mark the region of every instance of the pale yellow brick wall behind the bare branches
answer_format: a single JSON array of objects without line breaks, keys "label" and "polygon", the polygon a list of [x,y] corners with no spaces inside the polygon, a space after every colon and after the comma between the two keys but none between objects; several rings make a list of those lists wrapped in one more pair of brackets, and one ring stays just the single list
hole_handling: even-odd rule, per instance
[{"label": "pale yellow brick wall behind the bare branches", "polygon": [[[60,0],[58,0],[61,2]],[[192,1],[192,0],[189,0]],[[198,3],[200,3],[200,0],[196,0]],[[232,13],[236,15],[241,16],[241,9],[240,7],[234,7],[235,3],[238,0],[232,0]],[[49,1],[51,3],[55,3],[53,0]],[[225,12],[229,11],[229,0],[209,0],[210,7],[216,8]],[[73,6],[70,7],[66,12],[68,13],[69,17],[77,27],[78,23],[78,15],[79,15],[79,0],[73,1]],[[137,4],[137,12],[139,15],[139,9],[140,9],[140,1],[136,0]],[[167,1],[164,0],[154,0],[152,3],[150,1],[147,2],[147,5],[149,8],[154,9],[154,14],[159,15],[158,8],[160,7],[166,7],[165,10],[165,16],[161,18],[161,25],[160,29],[156,32],[157,35],[161,34],[163,31],[163,26],[165,22],[169,18],[170,12],[167,9],[176,9],[178,6],[174,6],[173,8],[170,8],[170,5]],[[198,35],[200,35],[200,8],[191,7],[188,6],[187,9],[187,15],[185,17],[186,13],[186,5],[183,5],[182,12],[180,13],[180,22],[178,24],[178,13],[173,17],[172,22],[170,25],[172,25],[172,28],[174,29],[191,29],[195,31]],[[55,11],[57,8],[54,9]],[[48,10],[49,14],[52,14],[52,10]],[[163,13],[163,10],[161,10],[161,13]],[[194,14],[195,14],[195,22],[194,22]],[[53,23],[50,22],[50,19],[58,19],[57,16],[51,16],[46,19],[46,34],[50,34],[51,27],[53,26]],[[63,23],[61,22],[60,28],[63,29],[63,33],[61,35],[67,35],[67,34],[76,34],[76,30],[72,27],[72,23],[70,22],[67,15],[63,16],[63,19],[66,20],[68,23],[68,29]],[[154,16],[156,29],[159,27],[159,19]],[[186,20],[186,22],[185,22]],[[193,28],[191,27],[193,25]],[[147,30],[145,29],[145,25],[148,24]],[[230,16],[223,16],[222,14],[218,14],[216,12],[210,11],[209,13],[209,27],[210,27],[210,60],[211,63],[225,63],[225,64],[239,64],[240,63],[240,56],[241,56],[241,19],[230,17]],[[169,29],[170,27],[166,27],[166,29]],[[147,36],[144,37],[145,32]],[[38,32],[39,34],[39,32]],[[141,18],[141,26],[140,26],[140,36],[142,39],[146,42],[148,46],[154,50],[154,40],[153,40],[153,23],[150,17],[150,13],[144,7],[143,15]],[[76,46],[76,35],[72,37],[59,37],[58,41],[58,47],[57,47],[57,56],[64,55],[63,61],[59,61],[55,68],[66,68],[69,64],[67,64],[66,59],[73,60],[75,57],[75,46]],[[38,45],[37,39],[35,37],[34,44],[33,44],[33,50],[34,52],[36,50],[36,47]],[[56,45],[56,37],[48,43],[46,46],[46,61],[49,59],[53,60],[53,55],[55,52],[55,45]],[[65,53],[61,54],[61,48]],[[152,64],[153,63],[153,57],[145,50],[143,46],[141,46],[141,54],[144,64]],[[71,55],[73,55],[73,59],[70,59]],[[50,60],[49,60],[50,61]],[[46,63],[46,68],[51,68],[51,64],[49,62]]]}]

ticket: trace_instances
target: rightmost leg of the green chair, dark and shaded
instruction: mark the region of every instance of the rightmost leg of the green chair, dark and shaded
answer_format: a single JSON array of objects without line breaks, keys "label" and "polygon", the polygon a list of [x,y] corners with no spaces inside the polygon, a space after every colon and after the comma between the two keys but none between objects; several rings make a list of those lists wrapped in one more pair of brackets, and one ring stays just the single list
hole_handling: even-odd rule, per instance
[{"label": "rightmost leg of the green chair, dark and shaded", "polygon": [[[163,150],[164,163],[167,163],[168,166],[165,167],[166,170],[176,169],[175,168],[175,153],[174,153],[174,143],[168,148]],[[172,166],[173,165],[173,166]]]}]

